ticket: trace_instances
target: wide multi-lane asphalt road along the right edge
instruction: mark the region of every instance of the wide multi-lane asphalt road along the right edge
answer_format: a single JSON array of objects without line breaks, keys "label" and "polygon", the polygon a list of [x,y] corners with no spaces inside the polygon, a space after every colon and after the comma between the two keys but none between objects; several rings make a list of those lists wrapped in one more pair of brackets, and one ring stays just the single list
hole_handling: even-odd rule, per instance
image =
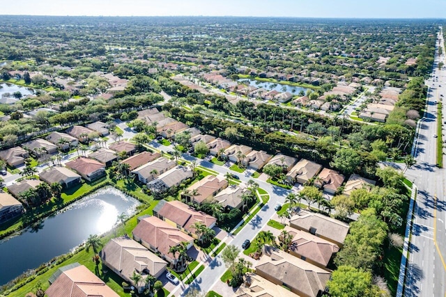
[{"label": "wide multi-lane asphalt road along the right edge", "polygon": [[[443,47],[443,38],[439,40]],[[446,296],[446,172],[436,167],[435,137],[438,116],[435,102],[446,96],[446,71],[438,70],[440,61],[445,63],[445,56],[438,58],[437,51],[433,76],[426,81],[429,86],[428,104],[415,150],[417,164],[406,172],[408,178],[415,181],[418,193],[404,296]],[[443,106],[443,114],[445,112]],[[444,118],[441,120],[445,121]],[[444,131],[443,127],[443,134]]]}]

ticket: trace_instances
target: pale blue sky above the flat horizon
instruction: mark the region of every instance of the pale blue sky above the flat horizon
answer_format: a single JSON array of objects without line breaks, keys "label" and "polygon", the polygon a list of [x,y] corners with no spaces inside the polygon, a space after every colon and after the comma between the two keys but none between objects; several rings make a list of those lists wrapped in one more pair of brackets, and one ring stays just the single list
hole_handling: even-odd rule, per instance
[{"label": "pale blue sky above the flat horizon", "polygon": [[15,0],[0,15],[443,19],[446,0]]}]

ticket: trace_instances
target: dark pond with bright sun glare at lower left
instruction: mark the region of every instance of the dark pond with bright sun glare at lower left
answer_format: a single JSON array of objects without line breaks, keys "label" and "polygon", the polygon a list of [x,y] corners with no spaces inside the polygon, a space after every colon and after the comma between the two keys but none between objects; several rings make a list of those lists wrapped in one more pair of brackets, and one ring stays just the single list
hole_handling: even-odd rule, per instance
[{"label": "dark pond with bright sun glare at lower left", "polygon": [[139,201],[113,187],[79,200],[33,229],[0,241],[0,285],[52,258],[70,252],[117,223],[117,216],[134,214]]}]

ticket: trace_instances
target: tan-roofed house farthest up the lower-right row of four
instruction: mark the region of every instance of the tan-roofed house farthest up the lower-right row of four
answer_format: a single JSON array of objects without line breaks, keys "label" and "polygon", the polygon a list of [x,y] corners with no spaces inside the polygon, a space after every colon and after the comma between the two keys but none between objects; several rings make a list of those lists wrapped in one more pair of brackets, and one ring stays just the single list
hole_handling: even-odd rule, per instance
[{"label": "tan-roofed house farthest up the lower-right row of four", "polygon": [[339,248],[344,246],[350,228],[340,220],[303,210],[290,219],[290,226],[336,243]]}]

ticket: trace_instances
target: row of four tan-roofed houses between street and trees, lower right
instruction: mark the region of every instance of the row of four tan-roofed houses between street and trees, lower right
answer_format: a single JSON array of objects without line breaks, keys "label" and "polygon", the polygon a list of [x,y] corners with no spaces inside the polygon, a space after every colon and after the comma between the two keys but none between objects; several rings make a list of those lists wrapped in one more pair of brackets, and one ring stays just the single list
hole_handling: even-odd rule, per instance
[{"label": "row of four tan-roofed houses between street and trees, lower right", "polygon": [[339,220],[299,211],[285,227],[292,236],[289,251],[264,246],[255,274],[245,277],[234,296],[321,296],[332,273],[327,265],[344,245],[348,230]]}]

